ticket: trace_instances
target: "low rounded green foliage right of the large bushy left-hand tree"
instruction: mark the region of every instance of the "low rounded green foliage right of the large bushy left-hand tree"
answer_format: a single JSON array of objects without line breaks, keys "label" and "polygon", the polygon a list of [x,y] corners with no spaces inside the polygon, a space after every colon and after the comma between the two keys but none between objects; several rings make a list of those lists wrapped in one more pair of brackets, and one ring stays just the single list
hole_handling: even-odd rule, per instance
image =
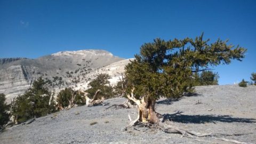
[{"label": "low rounded green foliage right of the large bushy left-hand tree", "polygon": [[74,97],[74,104],[78,106],[85,105],[85,98],[78,91],[72,90],[70,87],[61,90],[56,98],[59,108],[66,108],[69,106],[70,101]]}]

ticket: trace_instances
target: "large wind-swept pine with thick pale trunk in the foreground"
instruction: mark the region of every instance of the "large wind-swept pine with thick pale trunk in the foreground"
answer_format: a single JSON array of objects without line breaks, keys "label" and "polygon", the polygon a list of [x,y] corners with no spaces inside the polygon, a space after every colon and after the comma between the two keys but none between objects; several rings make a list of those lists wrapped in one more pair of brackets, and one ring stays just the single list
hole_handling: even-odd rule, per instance
[{"label": "large wind-swept pine with thick pale trunk in the foreground", "polygon": [[209,66],[229,64],[231,59],[242,61],[246,49],[218,41],[207,44],[203,34],[195,39],[154,39],[140,47],[140,54],[125,67],[127,98],[138,105],[139,122],[158,123],[160,114],[155,103],[160,97],[179,98],[191,92],[193,73]]}]

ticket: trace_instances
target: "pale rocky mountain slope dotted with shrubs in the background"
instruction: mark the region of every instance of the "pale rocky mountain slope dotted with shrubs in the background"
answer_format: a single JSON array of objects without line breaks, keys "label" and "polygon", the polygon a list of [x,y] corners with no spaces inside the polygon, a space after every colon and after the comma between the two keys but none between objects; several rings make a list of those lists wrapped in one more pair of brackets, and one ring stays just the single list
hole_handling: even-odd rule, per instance
[{"label": "pale rocky mountain slope dotted with shrubs in the background", "polygon": [[0,93],[10,102],[10,98],[25,92],[40,76],[55,92],[65,87],[85,90],[100,73],[108,73],[114,84],[128,62],[104,50],[63,51],[37,59],[0,59]]}]

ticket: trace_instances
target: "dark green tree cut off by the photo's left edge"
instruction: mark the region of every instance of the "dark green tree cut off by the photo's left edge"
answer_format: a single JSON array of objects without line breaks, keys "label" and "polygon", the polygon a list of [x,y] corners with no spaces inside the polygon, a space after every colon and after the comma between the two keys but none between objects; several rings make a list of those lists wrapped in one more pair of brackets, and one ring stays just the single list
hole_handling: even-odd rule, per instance
[{"label": "dark green tree cut off by the photo's left edge", "polygon": [[9,121],[10,117],[10,115],[7,113],[9,110],[9,105],[5,103],[5,100],[5,95],[0,93],[0,129]]}]

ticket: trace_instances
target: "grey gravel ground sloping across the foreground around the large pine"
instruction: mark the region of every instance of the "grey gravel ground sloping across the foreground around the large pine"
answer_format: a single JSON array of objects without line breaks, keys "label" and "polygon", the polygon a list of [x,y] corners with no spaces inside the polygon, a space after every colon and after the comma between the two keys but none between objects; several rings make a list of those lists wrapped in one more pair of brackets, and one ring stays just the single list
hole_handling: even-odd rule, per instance
[{"label": "grey gravel ground sloping across the foreground around the large pine", "polygon": [[[160,99],[156,111],[172,116],[174,125],[188,130],[252,133],[218,138],[256,143],[256,86],[197,86],[196,92],[178,101]],[[124,101],[108,99],[105,106],[76,107],[36,118],[28,125],[9,127],[0,133],[0,143],[230,143],[212,137],[195,138],[204,140],[196,141],[144,127],[140,131],[123,131],[129,124],[128,114],[135,119],[137,109],[105,109]],[[97,124],[91,125],[93,122]]]}]

